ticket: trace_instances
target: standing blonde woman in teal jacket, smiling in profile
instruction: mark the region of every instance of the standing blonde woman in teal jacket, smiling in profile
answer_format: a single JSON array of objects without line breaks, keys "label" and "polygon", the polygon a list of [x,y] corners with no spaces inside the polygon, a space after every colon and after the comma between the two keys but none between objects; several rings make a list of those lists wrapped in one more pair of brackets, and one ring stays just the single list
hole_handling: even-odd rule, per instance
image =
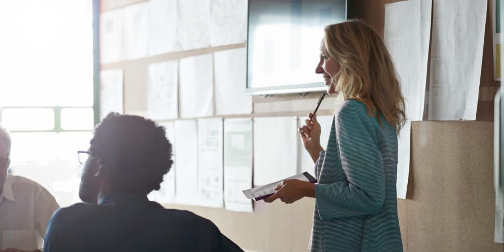
[{"label": "standing blonde woman in teal jacket, smiling in profile", "polygon": [[315,198],[310,251],[402,251],[397,217],[397,134],[404,98],[385,44],[363,21],[325,28],[319,65],[328,94],[342,95],[327,148],[317,116],[299,128],[318,184],[285,180],[266,202]]}]

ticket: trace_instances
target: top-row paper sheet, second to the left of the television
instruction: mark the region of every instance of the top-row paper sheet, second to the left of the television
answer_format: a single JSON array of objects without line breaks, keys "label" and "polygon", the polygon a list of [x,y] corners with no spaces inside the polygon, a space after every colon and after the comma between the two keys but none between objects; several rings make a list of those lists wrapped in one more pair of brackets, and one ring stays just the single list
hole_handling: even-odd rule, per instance
[{"label": "top-row paper sheet, second to the left of the television", "polygon": [[177,38],[182,50],[210,46],[210,0],[178,0],[177,17]]}]

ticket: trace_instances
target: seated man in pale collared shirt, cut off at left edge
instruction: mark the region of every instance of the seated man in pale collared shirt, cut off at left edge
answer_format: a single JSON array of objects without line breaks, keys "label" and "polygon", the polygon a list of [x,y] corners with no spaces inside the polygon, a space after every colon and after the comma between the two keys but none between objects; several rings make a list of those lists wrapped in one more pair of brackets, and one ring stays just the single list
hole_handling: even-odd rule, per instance
[{"label": "seated man in pale collared shirt, cut off at left edge", "polygon": [[59,206],[40,184],[8,173],[10,163],[11,137],[0,125],[0,251],[41,251],[47,222]]}]

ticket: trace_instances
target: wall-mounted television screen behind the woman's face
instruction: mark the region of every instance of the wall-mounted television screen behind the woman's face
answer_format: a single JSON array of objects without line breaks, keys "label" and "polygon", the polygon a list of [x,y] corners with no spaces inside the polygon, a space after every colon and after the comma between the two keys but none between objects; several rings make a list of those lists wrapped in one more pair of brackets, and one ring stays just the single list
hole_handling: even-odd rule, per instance
[{"label": "wall-mounted television screen behind the woman's face", "polygon": [[249,0],[246,92],[325,90],[315,74],[324,27],[346,13],[346,0]]}]

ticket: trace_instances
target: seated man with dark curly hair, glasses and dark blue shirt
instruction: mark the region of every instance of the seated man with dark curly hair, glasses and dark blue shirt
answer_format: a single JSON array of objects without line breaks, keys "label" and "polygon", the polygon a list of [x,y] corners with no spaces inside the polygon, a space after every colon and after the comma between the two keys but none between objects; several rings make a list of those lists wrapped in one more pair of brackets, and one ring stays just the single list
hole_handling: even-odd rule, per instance
[{"label": "seated man with dark curly hair, glasses and dark blue shirt", "polygon": [[90,143],[79,190],[88,204],[54,213],[44,251],[241,251],[211,221],[147,199],[173,163],[163,127],[110,113]]}]

